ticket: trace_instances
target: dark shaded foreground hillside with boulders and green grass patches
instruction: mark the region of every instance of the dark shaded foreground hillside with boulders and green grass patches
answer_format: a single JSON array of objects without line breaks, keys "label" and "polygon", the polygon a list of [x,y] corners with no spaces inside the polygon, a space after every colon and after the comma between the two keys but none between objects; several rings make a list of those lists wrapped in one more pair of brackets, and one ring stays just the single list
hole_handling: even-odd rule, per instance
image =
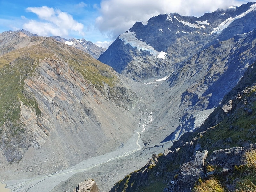
[{"label": "dark shaded foreground hillside with boulders and green grass patches", "polygon": [[[222,178],[229,191],[239,182],[243,154],[255,148],[256,64],[193,133],[186,133],[148,164],[117,182],[113,191],[192,191],[199,178]],[[226,102],[226,103],[224,103]],[[240,172],[241,173],[241,172]]]}]

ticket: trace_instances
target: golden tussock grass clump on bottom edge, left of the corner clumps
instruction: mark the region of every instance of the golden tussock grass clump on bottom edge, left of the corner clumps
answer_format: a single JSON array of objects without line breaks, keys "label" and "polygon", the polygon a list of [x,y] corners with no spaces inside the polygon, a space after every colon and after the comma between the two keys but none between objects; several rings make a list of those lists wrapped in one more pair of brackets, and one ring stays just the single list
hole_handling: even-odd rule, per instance
[{"label": "golden tussock grass clump on bottom edge, left of the corner clumps", "polygon": [[199,185],[194,187],[195,192],[226,192],[224,187],[220,184],[220,181],[214,177],[200,182]]}]

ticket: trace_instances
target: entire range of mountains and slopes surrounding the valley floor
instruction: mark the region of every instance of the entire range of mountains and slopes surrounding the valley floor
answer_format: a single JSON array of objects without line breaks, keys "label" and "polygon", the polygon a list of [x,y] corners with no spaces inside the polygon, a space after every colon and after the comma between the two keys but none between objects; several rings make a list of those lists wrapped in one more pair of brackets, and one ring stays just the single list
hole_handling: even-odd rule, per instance
[{"label": "entire range of mountains and slopes surrounding the valley floor", "polygon": [[[256,143],[255,16],[255,3],[199,18],[159,15],[136,22],[107,50],[84,38],[1,33],[1,180],[19,177],[18,167],[36,177],[123,148],[141,127],[134,153],[152,157],[126,177],[116,173],[124,179],[111,191],[191,191],[199,178],[224,177],[224,165],[205,171],[224,149],[240,162],[230,163],[231,174],[242,165],[235,147]],[[59,188],[73,190],[72,177]]]}]

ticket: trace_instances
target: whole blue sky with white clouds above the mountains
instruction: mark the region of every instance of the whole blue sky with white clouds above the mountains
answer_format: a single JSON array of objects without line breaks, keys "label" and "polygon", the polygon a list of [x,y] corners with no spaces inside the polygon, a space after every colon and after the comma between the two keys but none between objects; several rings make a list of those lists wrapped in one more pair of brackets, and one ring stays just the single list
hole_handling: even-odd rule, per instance
[{"label": "whole blue sky with white clouds above the mountains", "polygon": [[136,21],[159,14],[200,17],[245,0],[0,0],[0,33],[25,29],[38,36],[84,38],[107,48]]}]

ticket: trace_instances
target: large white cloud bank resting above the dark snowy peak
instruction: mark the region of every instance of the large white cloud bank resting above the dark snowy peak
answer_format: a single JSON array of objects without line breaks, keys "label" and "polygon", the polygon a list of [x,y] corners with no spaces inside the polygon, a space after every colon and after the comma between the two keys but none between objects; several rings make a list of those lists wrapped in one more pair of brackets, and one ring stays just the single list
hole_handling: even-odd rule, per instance
[{"label": "large white cloud bank resting above the dark snowy peak", "polygon": [[166,13],[177,12],[180,15],[201,16],[218,8],[226,9],[230,5],[240,6],[239,0],[103,0],[96,18],[99,30],[115,39],[129,30],[136,21],[146,22],[149,18]]}]

